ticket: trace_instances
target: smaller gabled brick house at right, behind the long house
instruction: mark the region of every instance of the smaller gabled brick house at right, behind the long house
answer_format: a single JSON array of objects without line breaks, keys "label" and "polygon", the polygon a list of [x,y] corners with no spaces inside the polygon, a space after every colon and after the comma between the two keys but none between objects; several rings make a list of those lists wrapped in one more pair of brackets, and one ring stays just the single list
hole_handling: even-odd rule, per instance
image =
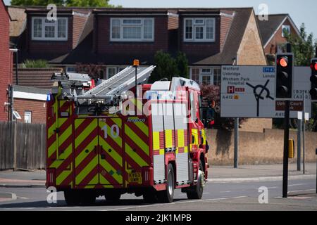
[{"label": "smaller gabled brick house at right, behind the long house", "polygon": [[263,39],[263,49],[270,64],[275,61],[275,54],[282,51],[287,43],[284,32],[301,37],[297,26],[288,14],[268,15],[268,20],[261,21],[258,18],[258,23]]}]

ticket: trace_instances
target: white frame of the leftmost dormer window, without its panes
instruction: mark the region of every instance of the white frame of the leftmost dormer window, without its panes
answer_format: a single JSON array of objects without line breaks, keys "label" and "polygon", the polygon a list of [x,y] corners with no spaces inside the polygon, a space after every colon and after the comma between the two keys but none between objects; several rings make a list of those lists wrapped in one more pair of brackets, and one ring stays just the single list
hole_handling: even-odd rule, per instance
[{"label": "white frame of the leftmost dormer window, without its panes", "polygon": [[[34,37],[34,20],[41,19],[42,20],[42,37]],[[55,27],[55,37],[45,37],[45,19],[46,17],[32,17],[32,40],[34,41],[67,41],[68,40],[68,18],[67,17],[58,17],[56,21],[54,21]],[[66,20],[66,37],[58,37],[58,19]],[[53,23],[52,23],[53,25]]]}]

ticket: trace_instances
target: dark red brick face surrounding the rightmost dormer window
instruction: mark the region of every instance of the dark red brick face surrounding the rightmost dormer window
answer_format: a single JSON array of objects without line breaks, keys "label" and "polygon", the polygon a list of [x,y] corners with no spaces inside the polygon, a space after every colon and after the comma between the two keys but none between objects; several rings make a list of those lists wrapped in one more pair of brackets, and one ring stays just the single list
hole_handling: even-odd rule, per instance
[{"label": "dark red brick face surrounding the rightmost dormer window", "polygon": [[[189,17],[189,16],[186,16]],[[195,60],[201,60],[209,56],[213,56],[220,52],[220,17],[216,17],[215,28],[215,42],[184,42],[184,18],[180,16],[180,29],[179,29],[179,41],[180,51],[187,55],[187,58],[195,58]],[[199,18],[206,16],[190,16],[190,18]],[[189,62],[191,63],[191,62]]]}]

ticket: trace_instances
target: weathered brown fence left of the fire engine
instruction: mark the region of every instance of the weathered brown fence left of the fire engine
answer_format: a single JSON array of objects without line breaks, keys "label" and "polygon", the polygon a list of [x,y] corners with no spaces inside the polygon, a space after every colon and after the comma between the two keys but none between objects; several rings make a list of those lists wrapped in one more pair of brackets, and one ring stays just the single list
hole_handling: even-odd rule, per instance
[{"label": "weathered brown fence left of the fire engine", "polygon": [[0,122],[0,169],[44,169],[45,124]]}]

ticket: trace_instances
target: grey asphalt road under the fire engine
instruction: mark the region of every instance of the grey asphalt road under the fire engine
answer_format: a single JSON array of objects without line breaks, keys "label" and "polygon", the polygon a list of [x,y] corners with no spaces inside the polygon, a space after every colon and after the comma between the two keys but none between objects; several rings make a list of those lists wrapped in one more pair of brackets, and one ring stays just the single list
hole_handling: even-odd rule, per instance
[{"label": "grey asphalt road under the fire engine", "polygon": [[[268,188],[268,204],[259,203],[259,188]],[[0,196],[0,210],[313,210],[317,211],[316,179],[289,181],[289,198],[281,198],[282,181],[253,181],[235,183],[206,184],[201,200],[188,200],[185,193],[175,191],[175,200],[170,204],[144,203],[142,197],[125,194],[118,203],[109,203],[98,198],[93,206],[68,207],[63,193],[58,193],[57,204],[46,201],[45,188],[0,188],[0,193],[15,193],[16,200],[6,200]]]}]

